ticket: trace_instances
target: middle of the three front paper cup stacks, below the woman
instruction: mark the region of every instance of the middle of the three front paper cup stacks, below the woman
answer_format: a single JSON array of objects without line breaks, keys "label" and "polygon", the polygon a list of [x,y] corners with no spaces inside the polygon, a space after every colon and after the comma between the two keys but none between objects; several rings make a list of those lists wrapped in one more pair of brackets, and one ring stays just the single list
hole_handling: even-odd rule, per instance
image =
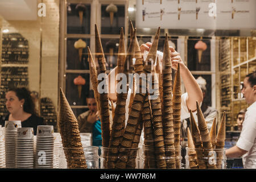
[{"label": "middle of the three front paper cup stacks, below the woman", "polygon": [[16,139],[16,168],[34,168],[34,130],[21,127]]}]

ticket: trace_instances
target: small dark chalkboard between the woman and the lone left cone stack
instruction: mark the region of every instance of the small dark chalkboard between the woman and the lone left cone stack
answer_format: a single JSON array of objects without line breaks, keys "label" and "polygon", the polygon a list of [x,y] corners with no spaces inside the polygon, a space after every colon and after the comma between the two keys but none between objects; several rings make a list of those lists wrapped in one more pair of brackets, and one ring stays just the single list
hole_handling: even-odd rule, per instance
[{"label": "small dark chalkboard between the woman and the lone left cone stack", "polygon": [[57,113],[51,98],[44,97],[40,100],[40,116],[44,118],[46,125],[52,125],[54,131],[57,131]]}]

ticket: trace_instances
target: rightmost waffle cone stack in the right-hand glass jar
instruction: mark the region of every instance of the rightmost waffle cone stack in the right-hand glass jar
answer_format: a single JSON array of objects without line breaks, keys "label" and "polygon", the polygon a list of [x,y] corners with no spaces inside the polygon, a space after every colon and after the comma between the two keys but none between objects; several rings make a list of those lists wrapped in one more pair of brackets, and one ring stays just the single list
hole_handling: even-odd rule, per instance
[{"label": "rightmost waffle cone stack in the right-hand glass jar", "polygon": [[216,137],[216,149],[220,149],[220,151],[216,150],[218,169],[220,169],[222,165],[223,151],[221,149],[224,149],[225,139],[226,139],[226,112],[224,111],[221,118],[220,128],[218,129],[218,134]]}]

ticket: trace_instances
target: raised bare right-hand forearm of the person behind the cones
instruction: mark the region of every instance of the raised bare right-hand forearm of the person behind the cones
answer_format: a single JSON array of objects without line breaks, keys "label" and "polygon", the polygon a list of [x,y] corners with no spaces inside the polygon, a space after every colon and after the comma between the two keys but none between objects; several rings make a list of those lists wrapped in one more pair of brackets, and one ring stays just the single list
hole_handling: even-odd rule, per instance
[{"label": "raised bare right-hand forearm of the person behind the cones", "polygon": [[198,101],[199,104],[203,101],[203,92],[189,69],[184,64],[181,64],[180,68],[181,78],[188,93],[188,109],[196,110],[196,101]]}]

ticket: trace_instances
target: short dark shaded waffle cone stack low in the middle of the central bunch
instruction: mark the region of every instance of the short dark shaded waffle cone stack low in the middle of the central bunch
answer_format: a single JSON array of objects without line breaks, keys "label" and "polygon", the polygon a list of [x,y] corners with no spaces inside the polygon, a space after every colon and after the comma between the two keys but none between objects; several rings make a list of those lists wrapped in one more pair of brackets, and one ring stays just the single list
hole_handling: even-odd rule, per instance
[{"label": "short dark shaded waffle cone stack low in the middle of the central bunch", "polygon": [[152,124],[152,110],[148,97],[144,100],[142,119],[144,125],[144,168],[156,168],[155,138]]}]

